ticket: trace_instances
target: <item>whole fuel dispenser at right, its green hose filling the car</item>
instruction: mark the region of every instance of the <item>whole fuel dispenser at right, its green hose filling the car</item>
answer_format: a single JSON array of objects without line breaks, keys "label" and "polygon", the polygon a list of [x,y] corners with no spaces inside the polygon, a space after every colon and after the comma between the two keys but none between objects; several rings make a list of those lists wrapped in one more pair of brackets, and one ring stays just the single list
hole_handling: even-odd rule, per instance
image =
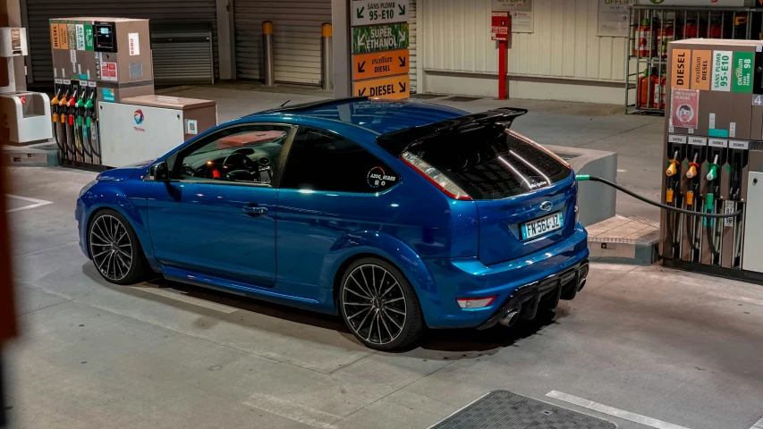
[{"label": "whole fuel dispenser at right, its green hose filling the car", "polygon": [[667,56],[664,264],[763,282],[763,41],[681,40]]}]

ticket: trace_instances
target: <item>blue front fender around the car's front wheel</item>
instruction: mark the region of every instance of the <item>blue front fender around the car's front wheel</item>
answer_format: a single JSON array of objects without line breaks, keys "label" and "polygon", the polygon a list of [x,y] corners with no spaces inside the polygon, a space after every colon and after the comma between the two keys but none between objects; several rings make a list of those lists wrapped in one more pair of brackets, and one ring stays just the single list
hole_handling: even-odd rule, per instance
[{"label": "blue front fender around the car's front wheel", "polygon": [[103,208],[109,208],[122,214],[138,236],[140,247],[151,265],[154,262],[154,248],[148,234],[148,211],[145,198],[129,198],[120,189],[120,182],[102,181],[90,188],[77,200],[76,218],[80,230],[80,247],[89,256],[88,225],[93,214]]}]

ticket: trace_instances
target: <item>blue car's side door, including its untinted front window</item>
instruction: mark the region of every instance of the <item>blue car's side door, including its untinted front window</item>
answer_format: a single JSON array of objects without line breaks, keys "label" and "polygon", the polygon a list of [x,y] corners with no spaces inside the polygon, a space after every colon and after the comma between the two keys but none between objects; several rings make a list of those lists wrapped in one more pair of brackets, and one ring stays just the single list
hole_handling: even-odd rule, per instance
[{"label": "blue car's side door, including its untinted front window", "polygon": [[277,166],[293,134],[284,125],[235,125],[170,156],[171,181],[153,183],[148,196],[157,260],[188,275],[272,287]]}]

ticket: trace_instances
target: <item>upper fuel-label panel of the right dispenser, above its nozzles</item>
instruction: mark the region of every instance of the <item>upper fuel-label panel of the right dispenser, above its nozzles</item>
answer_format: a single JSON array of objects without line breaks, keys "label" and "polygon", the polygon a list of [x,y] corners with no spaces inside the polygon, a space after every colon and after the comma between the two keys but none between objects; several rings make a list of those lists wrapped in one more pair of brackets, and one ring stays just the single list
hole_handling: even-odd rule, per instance
[{"label": "upper fuel-label panel of the right dispenser, above its nozzles", "polygon": [[763,139],[763,41],[668,44],[666,135]]}]

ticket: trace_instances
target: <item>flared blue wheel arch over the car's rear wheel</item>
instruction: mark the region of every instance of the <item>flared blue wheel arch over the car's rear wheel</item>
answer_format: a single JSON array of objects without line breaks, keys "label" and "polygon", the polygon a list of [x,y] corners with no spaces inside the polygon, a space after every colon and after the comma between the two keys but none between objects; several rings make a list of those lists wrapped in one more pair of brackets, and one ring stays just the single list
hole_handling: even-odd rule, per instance
[{"label": "flared blue wheel arch over the car's rear wheel", "polygon": [[[437,283],[423,261],[403,241],[379,231],[356,231],[336,240],[324,258],[318,285],[333,289],[339,269],[352,257],[369,255],[383,257],[403,272],[419,297],[422,309],[431,305],[440,307]],[[424,311],[426,319],[427,312]]]}]

